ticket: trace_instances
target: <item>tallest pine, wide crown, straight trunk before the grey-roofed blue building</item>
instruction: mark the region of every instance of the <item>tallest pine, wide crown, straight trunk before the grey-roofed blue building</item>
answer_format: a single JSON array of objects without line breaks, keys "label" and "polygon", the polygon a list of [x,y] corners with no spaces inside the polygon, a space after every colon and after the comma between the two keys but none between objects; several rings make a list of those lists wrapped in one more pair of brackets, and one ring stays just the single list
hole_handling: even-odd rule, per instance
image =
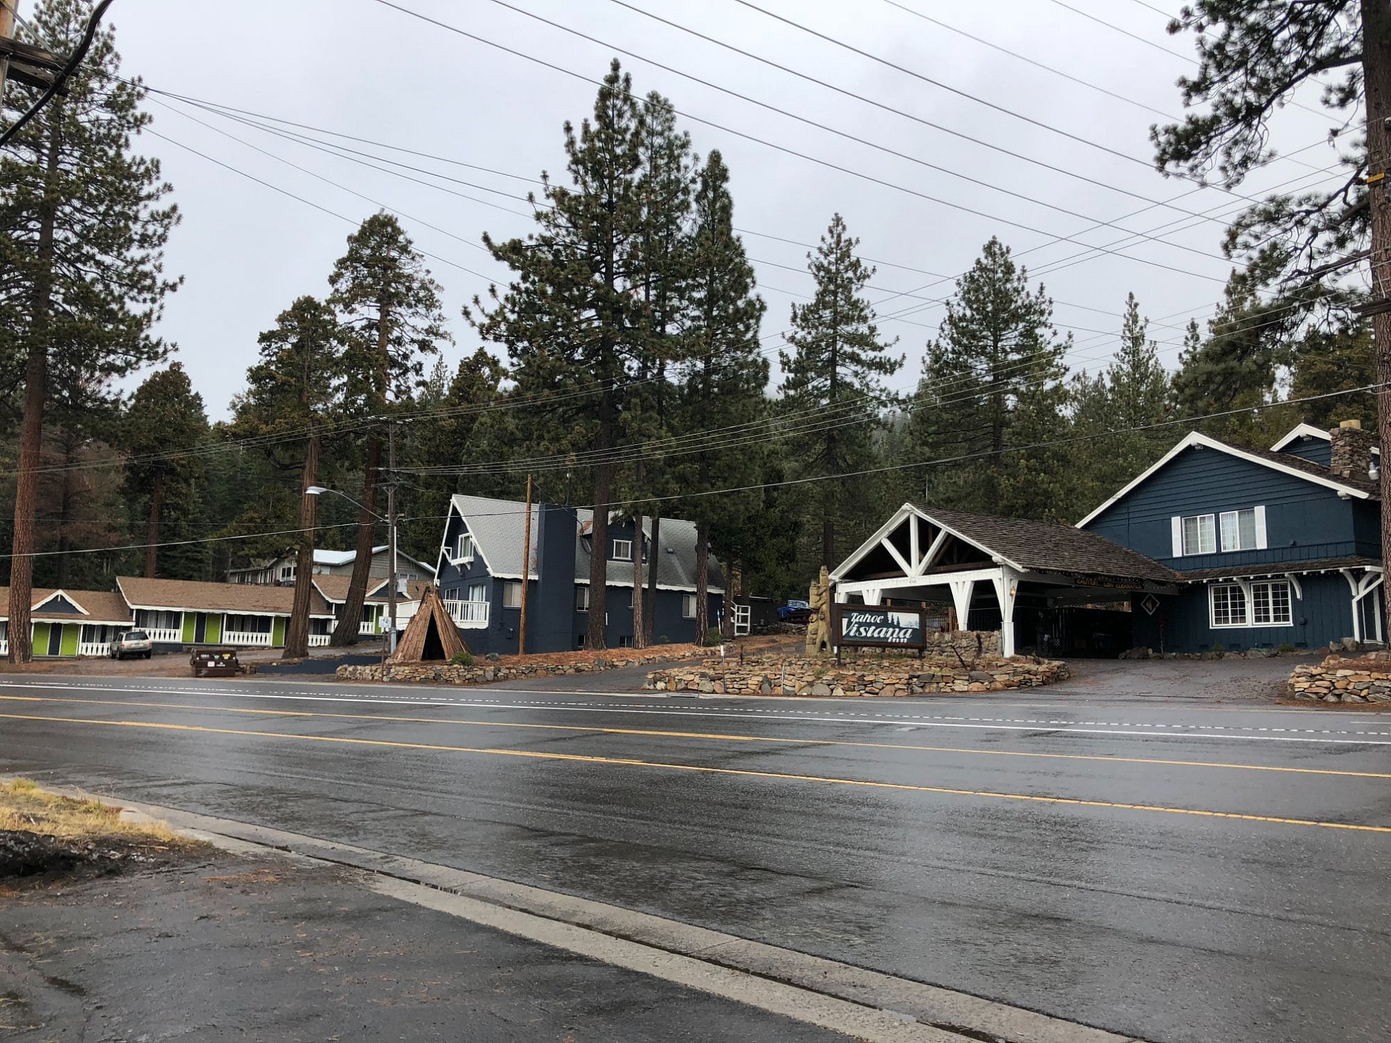
[{"label": "tallest pine, wide crown, straight trunk before the grey-roofed blue building", "polygon": [[641,128],[632,81],[615,61],[600,86],[593,118],[565,125],[572,188],[544,178],[549,207],[537,231],[495,242],[492,256],[516,277],[490,307],[474,299],[470,318],[508,350],[517,392],[533,405],[533,444],[548,452],[586,452],[593,463],[590,530],[590,648],[604,648],[608,523],[613,496],[611,452],[618,444],[629,384],[648,346],[634,250],[648,207],[638,193]]}]

